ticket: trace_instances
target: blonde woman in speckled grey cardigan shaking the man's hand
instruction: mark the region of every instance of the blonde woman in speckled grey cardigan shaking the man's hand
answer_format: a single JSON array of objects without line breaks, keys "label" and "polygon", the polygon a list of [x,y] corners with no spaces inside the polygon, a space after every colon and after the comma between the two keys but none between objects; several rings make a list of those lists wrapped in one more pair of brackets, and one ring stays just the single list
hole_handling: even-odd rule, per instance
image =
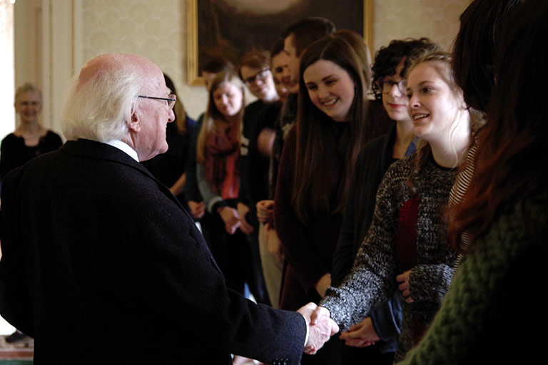
[{"label": "blonde woman in speckled grey cardigan shaking the man's hand", "polygon": [[[426,143],[388,168],[352,271],[328,289],[318,311],[346,330],[398,290],[403,319],[395,361],[425,333],[450,285],[455,252],[441,212],[475,126],[452,79],[449,54],[429,48],[413,56],[407,78],[414,132]],[[390,90],[395,86],[393,80]]]}]

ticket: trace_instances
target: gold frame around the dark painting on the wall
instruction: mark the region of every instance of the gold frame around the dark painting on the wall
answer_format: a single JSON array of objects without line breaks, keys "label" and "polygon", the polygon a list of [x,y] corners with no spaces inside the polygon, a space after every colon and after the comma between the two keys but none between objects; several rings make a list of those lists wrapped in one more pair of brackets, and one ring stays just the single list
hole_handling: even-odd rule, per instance
[{"label": "gold frame around the dark painting on the wall", "polygon": [[[212,0],[210,0],[212,1]],[[315,0],[315,4],[318,4]],[[186,0],[187,4],[187,76],[188,83],[192,86],[203,86],[203,78],[199,75],[199,45],[198,32],[198,0]],[[201,0],[201,4],[204,4]],[[223,18],[230,17],[229,14],[223,14]],[[363,0],[363,38],[370,46],[372,51],[373,44],[373,0]]]}]

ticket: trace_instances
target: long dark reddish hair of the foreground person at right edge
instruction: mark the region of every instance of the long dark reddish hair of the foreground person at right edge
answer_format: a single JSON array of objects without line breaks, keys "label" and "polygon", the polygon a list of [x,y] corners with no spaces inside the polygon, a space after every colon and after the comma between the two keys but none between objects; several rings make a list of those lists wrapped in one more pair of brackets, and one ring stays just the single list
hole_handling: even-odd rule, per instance
[{"label": "long dark reddish hair of the foreground person at right edge", "polygon": [[546,190],[548,118],[542,86],[548,82],[547,17],[547,1],[528,0],[507,22],[475,175],[450,222],[457,245],[455,237],[467,232],[473,248],[506,207]]}]

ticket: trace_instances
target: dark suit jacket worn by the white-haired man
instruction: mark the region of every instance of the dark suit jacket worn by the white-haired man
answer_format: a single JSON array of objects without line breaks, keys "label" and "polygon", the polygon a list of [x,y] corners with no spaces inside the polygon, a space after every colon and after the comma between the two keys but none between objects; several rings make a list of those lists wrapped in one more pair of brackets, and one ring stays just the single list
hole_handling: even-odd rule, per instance
[{"label": "dark suit jacket worn by the white-haired man", "polygon": [[168,188],[110,145],[69,141],[6,176],[1,245],[0,312],[36,364],[300,361],[303,317],[227,289]]}]

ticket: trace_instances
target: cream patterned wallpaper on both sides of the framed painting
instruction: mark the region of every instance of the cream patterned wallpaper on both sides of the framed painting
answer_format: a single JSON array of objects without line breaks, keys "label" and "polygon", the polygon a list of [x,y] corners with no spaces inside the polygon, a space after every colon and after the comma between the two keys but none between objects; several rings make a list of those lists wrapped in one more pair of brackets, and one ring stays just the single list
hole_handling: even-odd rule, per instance
[{"label": "cream patterned wallpaper on both sides of the framed painting", "polygon": [[[150,58],[172,78],[188,114],[205,110],[202,86],[186,83],[187,0],[83,0],[83,59],[106,52]],[[374,46],[427,36],[449,49],[470,0],[375,0]],[[248,99],[249,100],[249,99]]]}]

